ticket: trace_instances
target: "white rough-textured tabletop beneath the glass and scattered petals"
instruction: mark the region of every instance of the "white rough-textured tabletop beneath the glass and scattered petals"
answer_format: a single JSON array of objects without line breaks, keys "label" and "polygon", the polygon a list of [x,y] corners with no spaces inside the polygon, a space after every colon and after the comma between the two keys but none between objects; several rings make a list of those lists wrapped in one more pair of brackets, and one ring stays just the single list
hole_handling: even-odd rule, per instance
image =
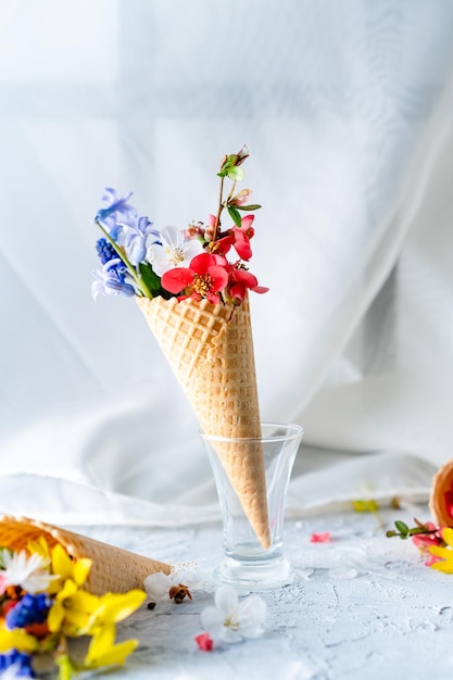
[{"label": "white rough-textured tabletop beneath the glass and scattered petals", "polygon": [[[418,507],[382,513],[412,524]],[[128,680],[411,680],[449,678],[453,671],[453,575],[424,566],[411,541],[387,539],[370,514],[288,521],[286,552],[300,582],[261,593],[267,602],[265,634],[200,652],[200,612],[212,604],[211,572],[222,555],[221,528],[78,530],[151,557],[185,563],[204,576],[203,590],[180,605],[146,606],[118,626],[118,639],[136,637],[137,651],[112,678]],[[330,543],[311,543],[330,531]]]}]

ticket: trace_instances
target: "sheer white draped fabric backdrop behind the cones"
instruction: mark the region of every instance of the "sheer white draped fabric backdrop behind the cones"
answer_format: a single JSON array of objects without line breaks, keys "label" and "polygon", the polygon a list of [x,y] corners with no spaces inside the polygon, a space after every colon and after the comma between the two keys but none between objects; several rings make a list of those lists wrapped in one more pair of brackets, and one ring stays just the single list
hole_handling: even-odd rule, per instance
[{"label": "sheer white draped fabric backdrop behind the cones", "polygon": [[3,0],[2,512],[216,516],[141,314],[91,300],[92,216],[114,186],[205,219],[244,142],[262,416],[305,428],[290,507],[426,494],[453,455],[452,32],[446,0]]}]

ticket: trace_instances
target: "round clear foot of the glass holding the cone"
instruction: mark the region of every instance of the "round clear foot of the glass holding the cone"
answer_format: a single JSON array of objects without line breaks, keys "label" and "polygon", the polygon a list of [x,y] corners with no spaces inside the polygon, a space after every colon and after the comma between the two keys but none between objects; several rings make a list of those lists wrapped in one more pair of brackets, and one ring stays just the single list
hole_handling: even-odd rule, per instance
[{"label": "round clear foot of the glass holding the cone", "polygon": [[214,569],[214,579],[238,590],[260,592],[291,585],[298,580],[291,563],[286,557],[241,562],[224,557]]}]

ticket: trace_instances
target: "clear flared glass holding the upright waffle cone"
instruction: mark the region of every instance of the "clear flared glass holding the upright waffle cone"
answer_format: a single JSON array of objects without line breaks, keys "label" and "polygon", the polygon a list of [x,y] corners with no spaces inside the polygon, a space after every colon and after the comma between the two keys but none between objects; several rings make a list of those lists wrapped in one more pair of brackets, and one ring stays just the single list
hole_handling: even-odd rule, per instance
[{"label": "clear flared glass holding the upright waffle cone", "polygon": [[[241,590],[269,590],[293,583],[295,572],[284,555],[282,534],[288,483],[303,429],[299,425],[264,423],[262,436],[216,437],[200,432],[214,473],[223,519],[225,557],[214,577]],[[260,446],[264,457],[270,545],[263,547],[222,462],[223,452],[247,455]]]}]

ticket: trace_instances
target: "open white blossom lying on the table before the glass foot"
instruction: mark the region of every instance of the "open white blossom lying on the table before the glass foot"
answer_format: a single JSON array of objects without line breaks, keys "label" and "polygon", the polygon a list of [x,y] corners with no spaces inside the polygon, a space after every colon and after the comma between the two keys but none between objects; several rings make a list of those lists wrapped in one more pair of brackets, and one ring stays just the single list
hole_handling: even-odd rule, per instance
[{"label": "open white blossom lying on the table before the glass foot", "polygon": [[257,638],[264,631],[267,605],[257,595],[239,601],[231,585],[222,585],[215,593],[215,606],[201,613],[201,625],[211,637],[224,642]]}]

